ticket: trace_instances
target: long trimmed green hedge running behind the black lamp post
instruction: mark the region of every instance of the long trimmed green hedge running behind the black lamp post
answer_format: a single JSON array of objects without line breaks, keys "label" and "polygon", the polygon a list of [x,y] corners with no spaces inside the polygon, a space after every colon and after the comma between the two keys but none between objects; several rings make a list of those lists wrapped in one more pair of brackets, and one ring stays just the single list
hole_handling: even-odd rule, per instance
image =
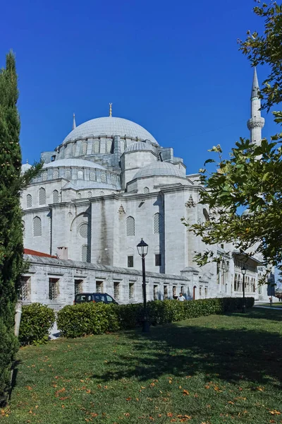
[{"label": "long trimmed green hedge running behind the black lamp post", "polygon": [[[246,307],[254,305],[254,298],[245,298]],[[152,325],[168,324],[204,315],[224,314],[242,310],[242,298],[215,298],[189,300],[154,300],[147,303],[149,321]],[[82,303],[69,305],[58,312],[57,326],[65,337],[87,334],[104,334],[107,331],[135,329],[142,325],[142,303],[130,305],[105,305]]]}]

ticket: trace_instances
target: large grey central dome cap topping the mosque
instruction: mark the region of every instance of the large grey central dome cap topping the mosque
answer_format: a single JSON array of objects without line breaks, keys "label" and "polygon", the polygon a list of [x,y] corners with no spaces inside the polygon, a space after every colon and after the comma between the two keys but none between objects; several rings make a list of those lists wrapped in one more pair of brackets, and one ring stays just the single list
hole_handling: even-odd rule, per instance
[{"label": "large grey central dome cap topping the mosque", "polygon": [[128,119],[116,117],[96,118],[84,122],[73,129],[73,131],[66,136],[63,143],[66,143],[66,141],[97,136],[137,137],[139,140],[149,140],[152,143],[158,144],[157,140],[154,139],[147,129],[135,124],[135,122],[129,121]]}]

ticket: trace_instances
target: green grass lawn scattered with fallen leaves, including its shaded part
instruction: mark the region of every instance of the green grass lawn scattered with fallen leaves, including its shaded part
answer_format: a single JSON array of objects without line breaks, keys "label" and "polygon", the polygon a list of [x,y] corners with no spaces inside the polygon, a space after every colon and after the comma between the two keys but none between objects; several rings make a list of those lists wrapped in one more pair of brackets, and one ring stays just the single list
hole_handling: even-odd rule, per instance
[{"label": "green grass lawn scattered with fallen leaves, including its shaded part", "polygon": [[0,421],[282,423],[281,322],[257,309],[22,348]]}]

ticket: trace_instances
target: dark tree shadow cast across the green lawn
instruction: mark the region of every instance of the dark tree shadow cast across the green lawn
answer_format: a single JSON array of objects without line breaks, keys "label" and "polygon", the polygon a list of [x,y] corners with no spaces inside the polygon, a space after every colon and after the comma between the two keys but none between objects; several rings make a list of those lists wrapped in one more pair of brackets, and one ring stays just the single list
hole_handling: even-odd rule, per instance
[{"label": "dark tree shadow cast across the green lawn", "polygon": [[[258,311],[253,318],[266,316]],[[161,375],[184,377],[203,373],[207,381],[216,376],[225,382],[271,382],[274,387],[281,387],[282,337],[274,332],[254,327],[217,329],[180,323],[152,328],[147,335],[128,331],[123,336],[125,344],[130,341],[132,353],[117,355],[108,364],[114,371],[97,373],[93,378],[109,382],[135,377],[142,381]]]}]

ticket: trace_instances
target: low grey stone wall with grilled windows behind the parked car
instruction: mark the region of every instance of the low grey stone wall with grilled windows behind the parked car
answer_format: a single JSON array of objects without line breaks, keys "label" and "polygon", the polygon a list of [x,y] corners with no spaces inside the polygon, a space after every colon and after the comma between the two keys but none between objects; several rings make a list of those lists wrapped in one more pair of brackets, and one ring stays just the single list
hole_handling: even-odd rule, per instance
[{"label": "low grey stone wall with grilled windows behind the parked car", "polygon": [[[54,310],[72,305],[78,292],[109,293],[118,303],[142,302],[142,272],[136,269],[25,255],[30,268],[23,275],[23,303],[41,302]],[[147,300],[172,299],[182,291],[192,298],[192,281],[186,276],[146,273]]]}]

